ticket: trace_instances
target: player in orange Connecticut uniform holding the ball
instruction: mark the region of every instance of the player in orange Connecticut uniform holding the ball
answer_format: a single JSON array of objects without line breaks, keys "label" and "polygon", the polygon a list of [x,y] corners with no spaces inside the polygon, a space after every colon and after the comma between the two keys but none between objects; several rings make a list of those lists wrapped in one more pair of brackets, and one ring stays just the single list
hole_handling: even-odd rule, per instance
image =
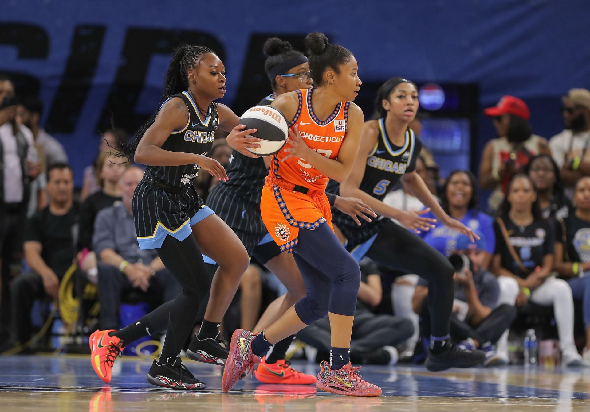
[{"label": "player in orange Connecticut uniform holding the ball", "polygon": [[234,332],[222,388],[227,392],[234,387],[271,345],[329,315],[330,363],[320,365],[316,386],[342,395],[378,396],[381,388],[364,381],[358,368],[350,365],[360,269],[333,232],[324,193],[329,178],[346,180],[358,154],[364,119],[352,100],[362,82],[356,59],[346,48],[329,44],[317,32],[307,35],[305,42],[317,87],[281,94],[272,103],[290,122],[290,139],[273,156],[261,215],[281,251],[293,253],[306,296],[260,334]]}]

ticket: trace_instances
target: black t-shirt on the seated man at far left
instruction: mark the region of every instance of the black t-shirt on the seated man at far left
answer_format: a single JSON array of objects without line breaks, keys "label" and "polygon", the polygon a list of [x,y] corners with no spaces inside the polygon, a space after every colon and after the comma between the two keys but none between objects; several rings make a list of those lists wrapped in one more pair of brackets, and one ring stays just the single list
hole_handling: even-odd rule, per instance
[{"label": "black t-shirt on the seated man at far left", "polygon": [[31,216],[25,229],[25,242],[41,243],[41,258],[60,279],[76,256],[74,236],[78,231],[78,211],[79,206],[74,203],[68,213],[55,216],[47,206]]}]

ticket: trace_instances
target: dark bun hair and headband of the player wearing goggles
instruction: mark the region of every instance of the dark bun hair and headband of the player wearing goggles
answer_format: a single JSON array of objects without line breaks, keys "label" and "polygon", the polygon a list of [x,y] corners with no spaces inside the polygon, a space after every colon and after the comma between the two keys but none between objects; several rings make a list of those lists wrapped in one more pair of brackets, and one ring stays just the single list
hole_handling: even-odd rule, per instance
[{"label": "dark bun hair and headband of the player wearing goggles", "polygon": [[294,50],[291,43],[283,41],[278,37],[271,37],[264,42],[264,54],[267,56],[264,62],[264,71],[270,79],[270,85],[273,91],[276,91],[277,81],[276,77],[285,74],[293,67],[307,62],[307,57],[298,51]]}]

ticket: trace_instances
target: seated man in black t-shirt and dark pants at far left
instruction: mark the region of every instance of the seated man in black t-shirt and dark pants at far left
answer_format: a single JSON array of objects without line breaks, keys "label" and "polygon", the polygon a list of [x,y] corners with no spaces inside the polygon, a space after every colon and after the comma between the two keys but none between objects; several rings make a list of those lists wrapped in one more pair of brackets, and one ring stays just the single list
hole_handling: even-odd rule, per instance
[{"label": "seated man in black t-shirt and dark pants at far left", "polygon": [[31,338],[34,301],[48,297],[58,304],[60,281],[76,256],[78,205],[73,201],[72,170],[68,164],[56,163],[47,170],[47,177],[49,206],[28,220],[24,233],[30,270],[12,283],[14,331],[21,344]]}]

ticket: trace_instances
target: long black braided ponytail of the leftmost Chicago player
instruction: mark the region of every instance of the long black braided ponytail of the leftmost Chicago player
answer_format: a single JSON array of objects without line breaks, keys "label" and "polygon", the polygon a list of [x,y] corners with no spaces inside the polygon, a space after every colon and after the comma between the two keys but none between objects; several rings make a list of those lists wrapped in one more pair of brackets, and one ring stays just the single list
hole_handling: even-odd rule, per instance
[{"label": "long black braided ponytail of the leftmost Chicago player", "polygon": [[[166,72],[164,92],[160,99],[160,106],[170,96],[185,91],[188,88],[188,71],[195,65],[198,66],[201,64],[205,55],[214,53],[214,51],[205,46],[189,46],[187,44],[181,44],[179,47],[175,48],[172,54],[172,61]],[[201,111],[201,108],[199,108],[199,111]],[[146,130],[152,126],[153,122],[156,120],[157,114],[157,112],[154,113],[152,117],[150,117],[149,120],[137,130],[133,141],[122,144],[121,149],[114,151],[112,156],[133,159],[137,144],[139,144],[139,141],[142,139],[143,134],[146,133]]]}]

